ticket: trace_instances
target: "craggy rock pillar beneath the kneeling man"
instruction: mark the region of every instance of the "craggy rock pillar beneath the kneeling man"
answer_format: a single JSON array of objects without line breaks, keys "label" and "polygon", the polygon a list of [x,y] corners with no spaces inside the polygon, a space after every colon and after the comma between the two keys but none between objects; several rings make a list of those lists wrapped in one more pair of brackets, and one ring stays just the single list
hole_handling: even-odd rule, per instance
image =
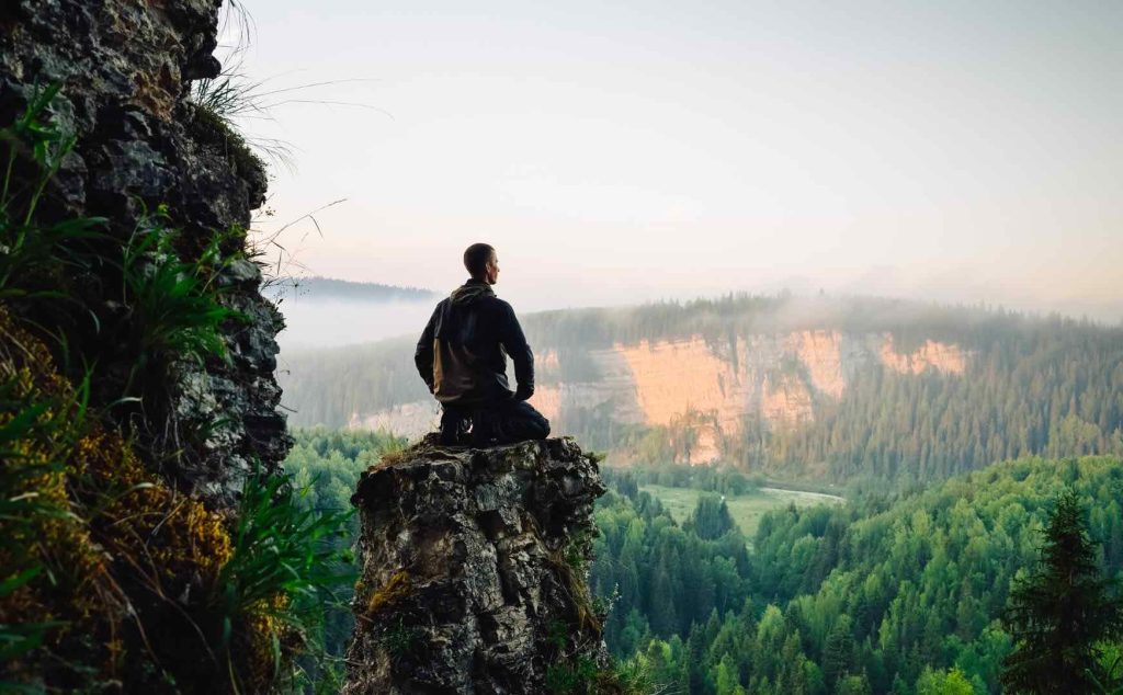
[{"label": "craggy rock pillar beneath the kneeling man", "polygon": [[364,473],[343,692],[541,694],[551,669],[603,664],[585,582],[603,493],[595,459],[569,438],[422,441]]}]

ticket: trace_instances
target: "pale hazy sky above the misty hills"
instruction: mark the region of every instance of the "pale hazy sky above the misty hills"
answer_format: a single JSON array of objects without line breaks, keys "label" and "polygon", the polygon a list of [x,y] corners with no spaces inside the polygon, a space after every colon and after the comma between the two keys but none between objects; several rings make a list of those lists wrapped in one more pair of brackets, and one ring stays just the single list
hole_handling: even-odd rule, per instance
[{"label": "pale hazy sky above the misty hills", "polygon": [[[245,0],[313,273],[517,308],[730,290],[1123,318],[1123,2]],[[375,110],[377,109],[377,110]],[[301,238],[303,240],[301,240]]]}]

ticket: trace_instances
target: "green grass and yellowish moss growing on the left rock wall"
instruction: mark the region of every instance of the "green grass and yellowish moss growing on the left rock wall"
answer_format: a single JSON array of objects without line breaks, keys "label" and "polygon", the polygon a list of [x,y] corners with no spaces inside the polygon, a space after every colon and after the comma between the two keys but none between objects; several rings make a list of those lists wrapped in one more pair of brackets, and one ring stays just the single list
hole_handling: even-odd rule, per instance
[{"label": "green grass and yellowish moss growing on the left rock wall", "polygon": [[[301,687],[322,603],[354,578],[329,542],[349,513],[305,510],[276,475],[211,509],[149,446],[171,367],[226,356],[219,274],[244,232],[176,248],[163,207],[124,240],[40,220],[74,144],[57,91],[0,128],[0,689]],[[182,450],[198,435],[164,429]]]}]

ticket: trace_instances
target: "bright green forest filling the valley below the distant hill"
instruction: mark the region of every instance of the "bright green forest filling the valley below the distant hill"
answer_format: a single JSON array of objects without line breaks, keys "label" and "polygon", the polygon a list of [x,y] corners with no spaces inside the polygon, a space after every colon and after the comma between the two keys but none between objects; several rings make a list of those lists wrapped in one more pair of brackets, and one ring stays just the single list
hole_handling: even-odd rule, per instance
[{"label": "bright green forest filling the valley below the distant hill", "polygon": [[[403,443],[295,435],[286,466],[317,509],[346,509],[359,472]],[[590,584],[611,604],[605,640],[617,657],[639,656],[669,692],[997,693],[1013,649],[1001,621],[1012,582],[1035,566],[1046,515],[1066,487],[1087,513],[1105,576],[1123,579],[1117,458],[1024,458],[926,491],[788,506],[766,514],[752,539],[721,497],[751,490],[740,474],[604,476],[611,491],[595,511]],[[714,492],[678,524],[640,482]],[[336,657],[350,630],[347,600],[325,621]]]}]

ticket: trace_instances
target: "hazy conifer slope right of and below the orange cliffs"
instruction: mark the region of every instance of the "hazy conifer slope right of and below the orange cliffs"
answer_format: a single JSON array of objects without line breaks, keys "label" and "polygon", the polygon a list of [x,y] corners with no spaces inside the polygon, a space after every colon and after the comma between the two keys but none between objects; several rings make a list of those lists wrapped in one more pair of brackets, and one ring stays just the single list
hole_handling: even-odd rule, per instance
[{"label": "hazy conifer slope right of and below the orange cliffs", "polygon": [[976,350],[961,378],[871,371],[814,423],[769,432],[763,451],[745,442],[746,463],[929,481],[1026,455],[1123,454],[1123,331],[1012,319],[960,340]]}]

